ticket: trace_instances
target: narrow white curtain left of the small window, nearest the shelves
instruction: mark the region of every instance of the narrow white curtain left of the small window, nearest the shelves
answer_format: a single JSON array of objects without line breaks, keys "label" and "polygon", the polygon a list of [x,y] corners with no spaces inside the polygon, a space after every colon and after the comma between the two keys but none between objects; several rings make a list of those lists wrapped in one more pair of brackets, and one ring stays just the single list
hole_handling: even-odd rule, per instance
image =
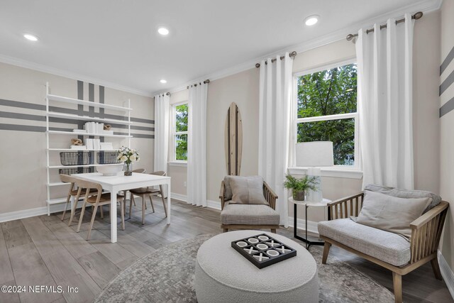
[{"label": "narrow white curtain left of the small window, nearest the shelves", "polygon": [[169,119],[170,97],[158,94],[155,96],[155,171],[167,172]]}]

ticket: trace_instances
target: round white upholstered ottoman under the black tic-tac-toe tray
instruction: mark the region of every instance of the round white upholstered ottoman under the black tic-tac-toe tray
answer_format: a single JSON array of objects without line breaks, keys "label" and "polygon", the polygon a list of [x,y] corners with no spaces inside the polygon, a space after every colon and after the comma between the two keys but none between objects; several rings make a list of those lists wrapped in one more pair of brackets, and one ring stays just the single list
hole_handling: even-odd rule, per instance
[{"label": "round white upholstered ottoman under the black tic-tac-toe tray", "polygon": [[231,247],[231,242],[263,231],[230,231],[205,241],[197,252],[194,286],[200,303],[319,302],[319,277],[312,255],[297,242],[265,233],[297,255],[259,269]]}]

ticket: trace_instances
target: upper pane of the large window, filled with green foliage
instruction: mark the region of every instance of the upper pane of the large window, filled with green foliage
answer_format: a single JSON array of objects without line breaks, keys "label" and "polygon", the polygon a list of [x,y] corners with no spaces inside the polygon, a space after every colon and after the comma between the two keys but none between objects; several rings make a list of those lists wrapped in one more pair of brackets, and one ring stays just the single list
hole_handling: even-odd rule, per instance
[{"label": "upper pane of the large window, filled with green foliage", "polygon": [[298,77],[298,118],[356,112],[356,65]]}]

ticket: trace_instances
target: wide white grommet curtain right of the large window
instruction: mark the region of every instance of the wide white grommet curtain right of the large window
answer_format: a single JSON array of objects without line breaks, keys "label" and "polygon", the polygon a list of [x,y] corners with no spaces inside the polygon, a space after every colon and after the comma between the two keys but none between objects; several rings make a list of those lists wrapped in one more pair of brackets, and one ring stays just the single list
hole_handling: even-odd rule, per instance
[{"label": "wide white grommet curtain right of the large window", "polygon": [[412,45],[414,21],[387,21],[358,32],[358,111],[363,187],[375,183],[414,188]]}]

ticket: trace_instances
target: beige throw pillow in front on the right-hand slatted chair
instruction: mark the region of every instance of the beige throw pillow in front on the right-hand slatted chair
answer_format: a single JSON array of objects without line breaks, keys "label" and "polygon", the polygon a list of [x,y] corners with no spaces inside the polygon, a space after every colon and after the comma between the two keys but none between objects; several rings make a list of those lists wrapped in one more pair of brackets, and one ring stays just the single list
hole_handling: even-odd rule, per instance
[{"label": "beige throw pillow in front on the right-hand slatted chair", "polygon": [[431,198],[405,199],[366,190],[356,223],[410,238],[411,222],[418,219],[431,202]]}]

